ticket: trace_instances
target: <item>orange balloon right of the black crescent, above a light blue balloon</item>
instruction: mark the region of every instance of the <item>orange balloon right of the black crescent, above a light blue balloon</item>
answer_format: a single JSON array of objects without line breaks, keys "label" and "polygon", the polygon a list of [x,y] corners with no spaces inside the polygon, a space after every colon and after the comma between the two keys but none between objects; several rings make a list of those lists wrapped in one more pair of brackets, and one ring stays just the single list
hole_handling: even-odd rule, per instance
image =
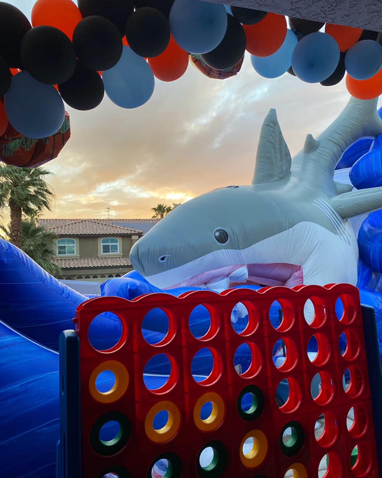
[{"label": "orange balloon right of the black crescent, above a light blue balloon", "polygon": [[284,43],[286,37],[286,18],[284,15],[268,13],[254,25],[243,25],[247,36],[247,51],[251,55],[273,55]]}]

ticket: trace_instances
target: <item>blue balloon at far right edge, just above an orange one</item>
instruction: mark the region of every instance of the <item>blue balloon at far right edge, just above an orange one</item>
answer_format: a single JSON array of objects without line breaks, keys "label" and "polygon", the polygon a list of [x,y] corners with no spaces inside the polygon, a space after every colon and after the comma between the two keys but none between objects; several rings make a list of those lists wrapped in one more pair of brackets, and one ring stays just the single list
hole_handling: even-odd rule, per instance
[{"label": "blue balloon at far right edge, just above an orange one", "polygon": [[355,80],[368,80],[377,75],[381,67],[382,46],[378,41],[359,41],[346,53],[345,68]]}]

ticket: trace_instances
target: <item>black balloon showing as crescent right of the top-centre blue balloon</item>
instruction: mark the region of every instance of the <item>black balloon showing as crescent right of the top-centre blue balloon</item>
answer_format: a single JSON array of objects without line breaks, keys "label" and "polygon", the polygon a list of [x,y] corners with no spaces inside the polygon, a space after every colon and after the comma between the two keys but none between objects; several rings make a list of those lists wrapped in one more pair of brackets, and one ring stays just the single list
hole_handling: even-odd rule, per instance
[{"label": "black balloon showing as crescent right of the top-centre blue balloon", "polygon": [[228,70],[240,60],[245,53],[247,38],[241,23],[227,14],[227,31],[220,44],[212,51],[201,55],[202,60],[215,70]]}]

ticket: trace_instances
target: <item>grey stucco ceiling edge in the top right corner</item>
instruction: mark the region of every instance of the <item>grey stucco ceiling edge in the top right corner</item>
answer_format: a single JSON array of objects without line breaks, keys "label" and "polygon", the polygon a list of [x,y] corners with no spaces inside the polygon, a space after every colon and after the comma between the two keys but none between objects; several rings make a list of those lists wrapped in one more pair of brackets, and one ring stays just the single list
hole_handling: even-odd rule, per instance
[{"label": "grey stucco ceiling edge in the top right corner", "polygon": [[382,31],[382,0],[207,0]]}]

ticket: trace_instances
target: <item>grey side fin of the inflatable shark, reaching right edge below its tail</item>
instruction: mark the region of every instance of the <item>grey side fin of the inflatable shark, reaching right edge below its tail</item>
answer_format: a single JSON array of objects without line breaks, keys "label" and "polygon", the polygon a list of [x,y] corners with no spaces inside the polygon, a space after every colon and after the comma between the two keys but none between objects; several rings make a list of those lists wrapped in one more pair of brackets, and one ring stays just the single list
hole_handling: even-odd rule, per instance
[{"label": "grey side fin of the inflatable shark, reaching right edge below its tail", "polygon": [[382,208],[382,187],[360,189],[335,196],[330,203],[343,218],[353,218]]}]

